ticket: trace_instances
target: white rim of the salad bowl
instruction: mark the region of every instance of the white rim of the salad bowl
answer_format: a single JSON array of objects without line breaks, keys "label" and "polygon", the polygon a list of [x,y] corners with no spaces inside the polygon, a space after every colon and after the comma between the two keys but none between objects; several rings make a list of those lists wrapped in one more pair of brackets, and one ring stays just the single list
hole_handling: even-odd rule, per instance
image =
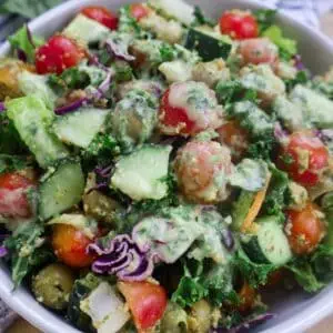
[{"label": "white rim of the salad bowl", "polygon": [[[274,9],[272,6],[268,3],[263,3],[259,0],[233,0],[235,3],[235,8],[238,3],[255,6],[263,9]],[[125,2],[125,1],[124,1]],[[41,14],[40,17],[36,18],[31,22],[28,23],[29,28],[32,32],[42,29],[49,20],[61,16],[62,12],[74,10],[75,8],[81,8],[87,4],[93,3],[92,0],[70,0],[63,2],[53,9],[47,11],[46,13]],[[319,39],[327,50],[333,56],[333,41],[322,33],[319,29],[313,29],[313,27],[309,27],[305,23],[295,20],[291,14],[285,12],[279,12],[279,16],[283,19],[290,21],[296,29],[304,30],[306,34],[311,34]],[[6,56],[10,51],[10,44],[8,41],[3,42],[0,46],[0,57]],[[36,311],[31,305],[39,304],[36,300],[31,301],[29,296],[26,294],[26,287],[21,286],[13,292],[13,284],[8,276],[8,272],[6,266],[0,262],[0,297],[24,317],[34,326],[39,327],[43,332],[51,332],[58,333],[60,332],[59,329],[61,326],[62,330],[65,330],[67,333],[79,333],[77,329],[70,325],[70,323],[65,322],[63,319],[54,317],[54,314],[48,310],[47,312],[39,313]],[[329,292],[327,292],[329,289]],[[47,315],[46,315],[47,313]],[[311,327],[312,325],[316,324],[325,316],[333,313],[333,283],[323,290],[320,293],[319,300],[313,300],[311,304],[307,304],[304,309],[300,309],[300,311],[292,317],[289,319],[272,329],[266,329],[261,331],[262,333],[275,333],[275,332],[284,332],[284,333],[296,333],[296,332],[304,332],[304,330]]]}]

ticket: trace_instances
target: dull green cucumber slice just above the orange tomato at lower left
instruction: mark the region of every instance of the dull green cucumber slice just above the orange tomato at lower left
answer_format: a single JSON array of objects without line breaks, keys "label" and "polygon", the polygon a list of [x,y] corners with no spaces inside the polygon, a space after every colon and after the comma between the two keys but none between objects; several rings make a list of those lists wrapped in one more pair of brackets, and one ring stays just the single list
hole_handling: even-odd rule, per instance
[{"label": "dull green cucumber slice just above the orange tomato at lower left", "polygon": [[84,175],[77,161],[61,163],[40,185],[39,214],[48,220],[81,201]]}]

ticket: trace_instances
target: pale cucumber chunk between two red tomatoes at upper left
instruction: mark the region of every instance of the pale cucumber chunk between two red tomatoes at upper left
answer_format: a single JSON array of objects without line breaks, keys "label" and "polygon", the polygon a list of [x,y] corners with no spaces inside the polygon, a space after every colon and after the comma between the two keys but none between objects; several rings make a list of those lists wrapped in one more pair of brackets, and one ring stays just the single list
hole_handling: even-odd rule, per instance
[{"label": "pale cucumber chunk between two red tomatoes at upper left", "polygon": [[104,39],[110,30],[95,20],[78,14],[62,33],[75,40],[92,43]]}]

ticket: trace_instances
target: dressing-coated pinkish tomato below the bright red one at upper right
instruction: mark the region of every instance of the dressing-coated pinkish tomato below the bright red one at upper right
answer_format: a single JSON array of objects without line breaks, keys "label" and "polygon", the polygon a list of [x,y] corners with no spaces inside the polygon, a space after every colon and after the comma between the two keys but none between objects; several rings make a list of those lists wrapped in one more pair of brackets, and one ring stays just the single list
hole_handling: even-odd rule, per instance
[{"label": "dressing-coated pinkish tomato below the bright red one at upper right", "polygon": [[279,59],[279,50],[268,38],[253,38],[240,43],[239,52],[245,64],[269,63],[275,64]]}]

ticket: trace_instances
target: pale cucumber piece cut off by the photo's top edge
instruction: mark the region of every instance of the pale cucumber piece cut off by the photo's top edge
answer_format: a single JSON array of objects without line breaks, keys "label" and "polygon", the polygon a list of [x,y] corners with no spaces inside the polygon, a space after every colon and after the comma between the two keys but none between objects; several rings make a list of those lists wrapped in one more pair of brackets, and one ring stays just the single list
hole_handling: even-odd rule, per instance
[{"label": "pale cucumber piece cut off by the photo's top edge", "polygon": [[157,9],[162,16],[191,26],[195,20],[194,7],[183,0],[149,0],[149,6]]}]

